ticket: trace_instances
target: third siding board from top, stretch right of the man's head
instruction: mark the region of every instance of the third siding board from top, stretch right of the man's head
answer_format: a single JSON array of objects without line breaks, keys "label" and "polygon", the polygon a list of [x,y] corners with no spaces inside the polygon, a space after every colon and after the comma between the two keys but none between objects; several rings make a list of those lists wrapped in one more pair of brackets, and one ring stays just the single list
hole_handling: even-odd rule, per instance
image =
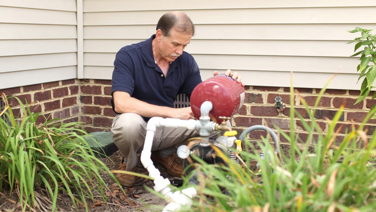
[{"label": "third siding board from top, stretch right of the man's head", "polygon": [[376,24],[196,25],[193,39],[349,41],[357,35],[347,31],[356,26],[376,29]]}]

